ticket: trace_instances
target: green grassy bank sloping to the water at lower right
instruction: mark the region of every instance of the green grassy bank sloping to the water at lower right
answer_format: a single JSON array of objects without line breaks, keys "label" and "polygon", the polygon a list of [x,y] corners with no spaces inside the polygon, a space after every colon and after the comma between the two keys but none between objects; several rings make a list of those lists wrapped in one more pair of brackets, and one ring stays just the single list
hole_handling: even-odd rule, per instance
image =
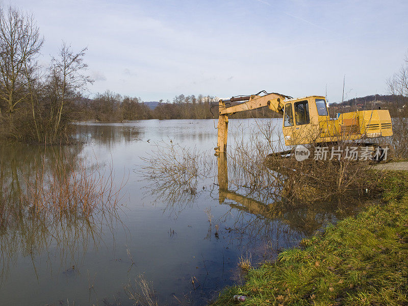
[{"label": "green grassy bank sloping to the water at lower right", "polygon": [[250,268],[212,305],[408,305],[408,174],[380,182],[382,203]]}]

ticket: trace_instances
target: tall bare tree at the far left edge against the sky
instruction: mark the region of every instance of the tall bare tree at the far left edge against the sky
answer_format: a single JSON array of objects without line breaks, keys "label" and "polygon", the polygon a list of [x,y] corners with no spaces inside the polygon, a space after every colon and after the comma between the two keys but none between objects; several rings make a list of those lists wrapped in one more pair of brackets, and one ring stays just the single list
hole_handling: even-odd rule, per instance
[{"label": "tall bare tree at the far left edge against the sky", "polygon": [[28,95],[27,72],[33,70],[43,42],[33,15],[12,6],[7,12],[0,8],[0,100],[10,114]]}]

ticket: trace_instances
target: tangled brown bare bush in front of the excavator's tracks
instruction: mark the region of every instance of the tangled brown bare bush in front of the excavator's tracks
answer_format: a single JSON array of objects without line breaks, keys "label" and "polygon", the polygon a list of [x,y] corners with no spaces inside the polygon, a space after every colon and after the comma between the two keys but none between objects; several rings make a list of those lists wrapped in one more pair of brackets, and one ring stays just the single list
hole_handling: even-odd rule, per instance
[{"label": "tangled brown bare bush in front of the excavator's tracks", "polygon": [[[290,202],[293,205],[334,198],[354,198],[368,194],[379,181],[378,174],[369,170],[369,161],[351,159],[314,160],[316,145],[309,145],[312,156],[297,161],[293,156],[277,153],[294,148],[285,147],[281,132],[273,130],[270,122],[258,123],[249,140],[239,139],[228,158],[228,188],[240,190],[247,196],[271,201]],[[275,138],[275,139],[274,139]],[[350,142],[333,144],[344,151]],[[355,145],[355,144],[353,144]],[[329,151],[330,152],[330,151]],[[266,156],[271,154],[267,159]]]}]

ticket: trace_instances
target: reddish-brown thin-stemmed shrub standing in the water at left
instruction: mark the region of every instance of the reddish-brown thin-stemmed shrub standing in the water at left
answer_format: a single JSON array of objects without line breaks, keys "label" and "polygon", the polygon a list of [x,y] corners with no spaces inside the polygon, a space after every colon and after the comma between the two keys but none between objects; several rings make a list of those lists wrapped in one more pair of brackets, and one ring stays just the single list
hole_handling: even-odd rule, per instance
[{"label": "reddish-brown thin-stemmed shrub standing in the water at left", "polygon": [[44,165],[42,160],[22,194],[36,213],[73,213],[89,218],[95,212],[115,210],[126,182],[122,180],[120,186],[115,186],[112,167],[105,170],[100,170],[98,165],[87,167],[83,159],[64,166],[55,164],[50,171]]}]

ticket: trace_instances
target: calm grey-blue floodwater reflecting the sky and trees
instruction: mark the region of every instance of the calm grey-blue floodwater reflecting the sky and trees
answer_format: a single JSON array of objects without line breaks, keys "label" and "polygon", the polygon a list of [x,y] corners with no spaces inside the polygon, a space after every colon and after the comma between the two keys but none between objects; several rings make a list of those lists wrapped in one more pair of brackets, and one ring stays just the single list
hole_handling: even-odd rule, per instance
[{"label": "calm grey-blue floodwater reflecting the sky and trees", "polygon": [[[270,120],[270,119],[267,119]],[[272,119],[277,126],[282,119]],[[238,259],[273,259],[284,248],[328,222],[337,213],[321,207],[276,211],[257,199],[219,192],[211,175],[196,191],[163,190],[143,176],[156,144],[180,144],[206,152],[214,164],[217,130],[213,120],[145,120],[81,123],[85,142],[65,147],[1,145],[2,175],[18,197],[30,173],[61,159],[84,158],[112,167],[114,183],[124,180],[117,216],[103,221],[63,223],[18,215],[0,222],[1,305],[132,305],[123,288],[135,278],[152,282],[160,304],[206,304],[226,285],[243,282]],[[254,119],[230,119],[248,138]],[[237,129],[238,130],[238,129]],[[234,137],[231,133],[228,141]],[[231,149],[231,148],[229,148]],[[211,162],[211,161],[210,161]],[[46,167],[45,167],[46,168]],[[214,172],[216,173],[216,172]],[[28,176],[27,176],[28,175]],[[5,205],[13,206],[11,200]],[[211,221],[210,221],[211,220]]]}]

